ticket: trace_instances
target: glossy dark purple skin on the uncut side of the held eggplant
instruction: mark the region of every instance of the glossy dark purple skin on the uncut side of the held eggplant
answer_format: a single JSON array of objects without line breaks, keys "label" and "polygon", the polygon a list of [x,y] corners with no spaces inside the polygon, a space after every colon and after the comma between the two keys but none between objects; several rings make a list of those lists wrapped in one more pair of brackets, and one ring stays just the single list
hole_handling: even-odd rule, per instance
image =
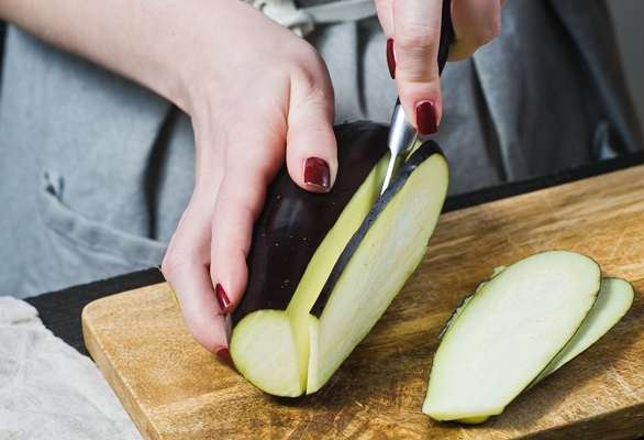
[{"label": "glossy dark purple skin on the uncut side of the held eggplant", "polygon": [[313,194],[300,188],[286,167],[267,188],[246,261],[248,284],[230,316],[232,328],[257,310],[286,310],[318,246],[389,151],[387,125],[345,122],[336,125],[334,132],[338,168],[329,193]]}]

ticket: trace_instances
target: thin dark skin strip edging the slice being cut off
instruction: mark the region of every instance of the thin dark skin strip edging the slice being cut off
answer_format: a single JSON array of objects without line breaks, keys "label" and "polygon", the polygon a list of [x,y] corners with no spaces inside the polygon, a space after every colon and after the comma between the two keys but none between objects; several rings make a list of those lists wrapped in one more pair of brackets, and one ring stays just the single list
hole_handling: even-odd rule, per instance
[{"label": "thin dark skin strip edging the slice being cut off", "polygon": [[313,308],[311,309],[311,315],[320,319],[322,312],[324,311],[324,308],[326,307],[326,302],[331,297],[331,293],[333,292],[333,288],[337,283],[337,279],[342,275],[344,268],[346,267],[348,261],[351,260],[355,251],[360,245],[360,242],[363,241],[365,234],[367,233],[374,221],[376,221],[380,212],[382,212],[387,205],[389,205],[393,196],[396,196],[398,191],[403,187],[411,173],[426,158],[434,154],[440,154],[444,156],[443,150],[435,141],[425,141],[421,146],[418,147],[418,150],[415,150],[411,154],[407,162],[404,162],[400,166],[398,173],[391,179],[389,187],[387,187],[387,189],[380,196],[376,205],[374,205],[374,208],[371,208],[371,210],[369,211],[369,213],[367,215],[358,230],[353,234],[352,239],[345,246],[342,254],[340,254],[337,262],[335,262],[335,265],[333,266],[333,270],[331,271],[331,274],[329,275],[326,283],[324,284],[324,287],[320,293],[320,296],[318,296],[318,299],[313,305]]}]

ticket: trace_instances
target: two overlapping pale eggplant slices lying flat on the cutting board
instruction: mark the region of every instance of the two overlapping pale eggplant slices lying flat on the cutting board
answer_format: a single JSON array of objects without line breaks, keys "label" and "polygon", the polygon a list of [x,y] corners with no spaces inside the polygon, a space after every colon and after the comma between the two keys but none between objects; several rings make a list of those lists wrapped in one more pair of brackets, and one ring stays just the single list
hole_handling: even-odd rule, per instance
[{"label": "two overlapping pale eggplant slices lying flat on the cutting board", "polygon": [[623,279],[571,251],[501,267],[441,332],[422,411],[480,424],[607,333],[633,302]]}]

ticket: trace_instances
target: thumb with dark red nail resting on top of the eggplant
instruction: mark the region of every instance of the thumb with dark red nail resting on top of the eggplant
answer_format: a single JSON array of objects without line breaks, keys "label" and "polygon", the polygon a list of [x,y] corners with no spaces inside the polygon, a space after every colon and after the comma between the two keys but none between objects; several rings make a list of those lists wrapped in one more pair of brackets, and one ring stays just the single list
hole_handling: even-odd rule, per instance
[{"label": "thumb with dark red nail resting on top of the eggplant", "polygon": [[324,73],[293,78],[288,114],[287,167],[293,182],[313,193],[325,193],[337,173],[333,133],[333,88]]}]

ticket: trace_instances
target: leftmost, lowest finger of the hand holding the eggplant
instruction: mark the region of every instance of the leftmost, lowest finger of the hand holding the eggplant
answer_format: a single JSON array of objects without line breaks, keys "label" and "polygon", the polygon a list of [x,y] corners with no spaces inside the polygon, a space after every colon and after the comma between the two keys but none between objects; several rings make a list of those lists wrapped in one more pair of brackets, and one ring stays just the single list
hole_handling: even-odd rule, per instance
[{"label": "leftmost, lowest finger of the hand holding the eggplant", "polygon": [[188,331],[199,344],[216,353],[227,346],[227,341],[210,279],[210,212],[199,212],[204,205],[193,199],[188,206],[170,240],[162,271],[177,296]]}]

